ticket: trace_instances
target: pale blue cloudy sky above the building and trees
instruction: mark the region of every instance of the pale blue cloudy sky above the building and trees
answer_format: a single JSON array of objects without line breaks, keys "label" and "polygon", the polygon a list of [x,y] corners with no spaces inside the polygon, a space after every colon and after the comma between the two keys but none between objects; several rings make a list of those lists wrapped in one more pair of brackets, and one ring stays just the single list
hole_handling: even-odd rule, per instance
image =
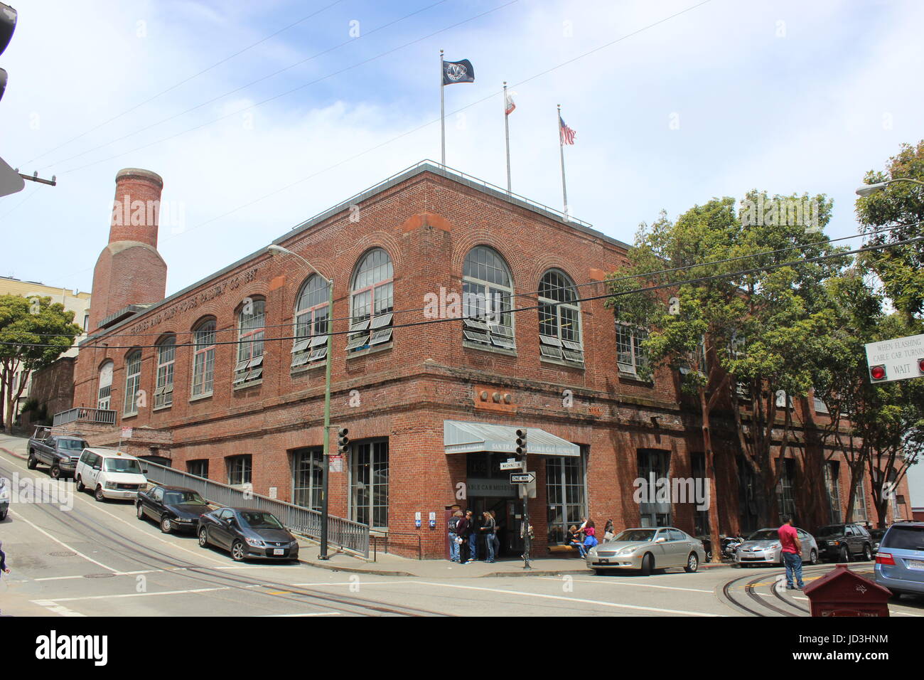
[{"label": "pale blue cloudy sky above the building and trees", "polygon": [[711,0],[645,28],[698,4],[18,0],[0,156],[59,184],[0,198],[0,274],[89,290],[121,167],[161,174],[177,208],[169,293],[438,159],[440,48],[476,71],[445,91],[450,167],[505,184],[508,80],[514,191],[561,207],[560,103],[572,214],[608,235],[753,188],[827,193],[829,232],[856,232],[865,172],[922,137],[924,4]]}]

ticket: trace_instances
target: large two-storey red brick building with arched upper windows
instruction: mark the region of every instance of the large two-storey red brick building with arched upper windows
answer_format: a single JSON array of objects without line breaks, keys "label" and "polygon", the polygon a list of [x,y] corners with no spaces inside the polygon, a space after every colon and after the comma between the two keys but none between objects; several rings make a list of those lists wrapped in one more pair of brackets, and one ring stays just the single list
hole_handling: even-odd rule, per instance
[{"label": "large two-storey red brick building with arched upper windows", "polygon": [[[110,249],[127,238],[156,244],[156,222],[135,229],[127,237],[114,227]],[[115,410],[116,426],[133,428],[136,452],[317,507],[333,328],[331,422],[351,441],[346,459],[333,462],[331,513],[396,541],[422,535],[424,553],[439,556],[447,507],[493,509],[504,550],[517,554],[521,501],[500,464],[514,457],[515,428],[528,427],[537,550],[588,514],[601,527],[612,519],[706,530],[692,503],[633,500],[639,476],[701,477],[704,461],[697,412],[679,396],[676,374],[639,380],[638,338],[602,299],[586,300],[623,266],[625,243],[431,163],[274,243],[334,279],[332,313],[321,277],[265,248],[165,300],[151,298],[159,278],[133,289],[137,282],[122,280],[131,271],[116,276],[101,256],[94,281],[119,292],[94,287],[102,327],[81,347],[75,405]],[[131,306],[139,303],[150,306]],[[446,320],[460,313],[474,318]],[[793,407],[797,423],[824,418],[810,404]],[[717,438],[728,450],[717,458],[734,461],[735,439]],[[812,493],[799,488],[799,470],[794,459],[780,490],[796,509]],[[711,521],[723,532],[753,528],[736,465],[716,474]],[[845,504],[846,477],[842,462],[835,504]],[[407,545],[416,553],[416,537]]]}]

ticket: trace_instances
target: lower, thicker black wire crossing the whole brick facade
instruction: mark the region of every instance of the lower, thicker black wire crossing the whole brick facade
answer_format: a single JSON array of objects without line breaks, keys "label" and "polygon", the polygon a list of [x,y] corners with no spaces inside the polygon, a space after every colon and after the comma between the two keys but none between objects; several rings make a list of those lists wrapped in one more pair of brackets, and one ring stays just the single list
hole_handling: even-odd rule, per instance
[{"label": "lower, thicker black wire crossing the whole brick facade", "polygon": [[[899,246],[910,245],[911,243],[918,243],[921,241],[924,241],[924,236],[918,236],[914,239],[906,239],[905,241],[895,241],[894,243],[885,243],[885,244],[877,245],[877,246],[866,246],[863,248],[856,248],[854,250],[844,251],[842,253],[819,255],[818,257],[809,257],[804,260],[795,260],[791,262],[777,263],[775,265],[752,267],[750,269],[741,269],[739,271],[729,272],[726,274],[715,274],[709,277],[688,278],[688,279],[679,280],[679,281],[671,281],[668,283],[659,283],[659,284],[654,284],[651,286],[645,286],[643,288],[634,289],[632,291],[617,291],[617,292],[605,293],[602,295],[592,295],[586,298],[579,298],[573,302],[586,303],[586,302],[590,302],[593,300],[604,300],[604,299],[609,299],[609,298],[614,298],[614,297],[623,297],[625,295],[632,295],[632,294],[639,293],[639,292],[662,291],[663,289],[667,289],[667,288],[677,288],[679,286],[687,286],[687,285],[692,285],[696,283],[705,283],[707,281],[720,280],[723,278],[743,277],[743,276],[748,276],[750,274],[758,274],[760,272],[768,272],[768,271],[773,271],[775,269],[782,269],[783,267],[786,267],[786,266],[803,266],[803,265],[808,265],[814,262],[832,260],[835,258],[846,257],[848,255],[854,255],[857,253],[868,253],[870,251],[885,250],[887,248],[897,248]],[[568,304],[568,303],[549,302],[549,303],[542,303],[542,304],[532,304],[526,307],[517,307],[515,309],[510,309],[510,310],[496,311],[493,314],[517,314],[518,312],[529,312],[532,310],[541,309],[541,307],[558,306],[560,304]],[[471,316],[455,316],[455,317],[449,317],[449,318],[427,319],[426,321],[412,321],[412,322],[408,322],[404,324],[394,324],[391,327],[386,327],[386,328],[411,328],[415,326],[427,326],[429,324],[442,324],[442,323],[447,323],[447,322],[463,321],[466,318],[469,318],[469,319],[475,318],[475,320],[477,320],[476,317],[471,317]],[[355,334],[356,332],[357,331],[355,330],[347,329],[347,330],[340,330],[340,331],[332,331],[330,333],[325,333],[323,335],[325,336],[326,335],[332,335],[332,336],[350,335],[350,334]],[[100,340],[105,340],[105,339],[106,339],[106,336],[98,336],[92,339],[84,340],[84,342],[87,343],[85,347],[87,349],[90,349],[91,347],[100,347],[101,345],[104,345],[110,350],[151,349],[151,348],[159,347],[159,345],[156,345],[156,344],[154,345],[137,345],[137,344],[135,345],[109,345],[108,343],[100,342]],[[306,340],[306,338],[301,337],[301,336],[286,336],[286,337],[279,337],[279,338],[263,338],[262,340],[222,340],[222,341],[210,342],[208,344],[205,344],[202,342],[185,342],[185,343],[177,343],[174,345],[174,347],[212,347],[212,346],[217,346],[217,345],[238,345],[238,344],[246,343],[246,342],[251,342],[251,343],[252,342],[273,342],[275,340]],[[55,348],[57,347],[57,345],[40,344],[40,343],[34,343],[34,342],[8,342],[8,341],[0,341],[0,345],[13,345],[16,347],[55,347]]]}]

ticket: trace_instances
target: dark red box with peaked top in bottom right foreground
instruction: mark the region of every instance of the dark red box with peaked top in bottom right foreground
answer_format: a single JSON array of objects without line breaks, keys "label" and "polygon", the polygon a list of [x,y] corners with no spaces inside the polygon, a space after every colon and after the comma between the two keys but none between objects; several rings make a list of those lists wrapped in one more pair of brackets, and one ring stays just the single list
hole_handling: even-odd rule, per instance
[{"label": "dark red box with peaked top in bottom right foreground", "polygon": [[845,564],[803,589],[812,616],[888,616],[892,593],[854,574]]}]

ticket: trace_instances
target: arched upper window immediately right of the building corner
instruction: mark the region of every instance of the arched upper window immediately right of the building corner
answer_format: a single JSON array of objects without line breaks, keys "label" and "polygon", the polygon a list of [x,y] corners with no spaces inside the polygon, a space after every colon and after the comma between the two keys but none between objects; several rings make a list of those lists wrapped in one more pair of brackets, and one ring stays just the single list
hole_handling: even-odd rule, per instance
[{"label": "arched upper window immediately right of the building corner", "polygon": [[465,340],[505,350],[517,349],[511,301],[510,268],[486,245],[468,251],[462,267],[462,335]]}]

